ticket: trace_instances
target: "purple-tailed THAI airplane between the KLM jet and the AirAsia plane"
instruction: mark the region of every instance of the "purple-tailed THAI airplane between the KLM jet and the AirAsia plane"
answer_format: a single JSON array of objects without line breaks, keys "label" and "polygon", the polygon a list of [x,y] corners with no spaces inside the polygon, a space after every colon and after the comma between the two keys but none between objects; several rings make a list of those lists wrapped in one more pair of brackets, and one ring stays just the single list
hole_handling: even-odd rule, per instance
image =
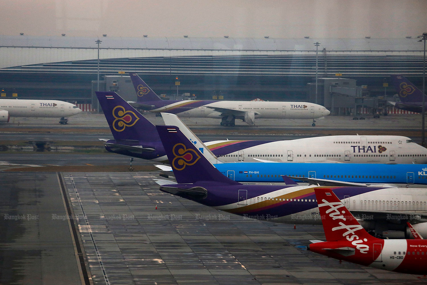
[{"label": "purple-tailed THAI airplane between the KLM jet and the AirAsia plane", "polygon": [[[222,175],[175,126],[157,126],[176,182],[157,179],[160,190],[225,212],[279,223],[320,224],[314,188],[243,185]],[[407,230],[407,221],[427,233],[427,188],[334,187],[339,199],[377,234]],[[414,224],[416,223],[416,224]]]}]

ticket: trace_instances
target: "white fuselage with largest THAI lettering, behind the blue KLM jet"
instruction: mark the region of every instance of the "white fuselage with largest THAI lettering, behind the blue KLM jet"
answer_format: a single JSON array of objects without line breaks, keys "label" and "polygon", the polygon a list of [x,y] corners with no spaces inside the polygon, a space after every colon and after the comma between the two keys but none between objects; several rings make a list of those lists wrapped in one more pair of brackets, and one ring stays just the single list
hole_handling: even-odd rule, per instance
[{"label": "white fuselage with largest THAI lettering, behind the blue KLM jet", "polygon": [[338,162],[426,164],[427,149],[398,135],[332,135],[272,141],[239,148],[242,141],[209,141],[210,149],[235,145],[236,150],[219,157],[225,162]]}]

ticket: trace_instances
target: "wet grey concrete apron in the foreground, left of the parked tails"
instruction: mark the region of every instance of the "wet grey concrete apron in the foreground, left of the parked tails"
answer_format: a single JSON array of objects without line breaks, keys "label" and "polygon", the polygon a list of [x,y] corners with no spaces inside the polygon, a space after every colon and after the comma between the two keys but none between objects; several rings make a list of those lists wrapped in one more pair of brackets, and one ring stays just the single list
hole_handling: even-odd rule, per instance
[{"label": "wet grey concrete apron in the foreground, left of the parked tails", "polygon": [[[5,198],[1,213],[39,215],[34,220],[2,221],[2,229],[13,234],[1,241],[3,260],[8,261],[2,271],[8,274],[2,274],[0,283],[84,283],[85,268],[88,284],[423,281],[422,276],[340,263],[311,253],[305,246],[310,239],[324,239],[321,226],[294,229],[217,211],[159,191],[153,180],[157,175],[0,173]],[[69,209],[61,192],[66,193]],[[53,214],[67,216],[67,212],[76,224],[76,243],[70,219],[53,219]],[[75,255],[79,245],[83,265]]]}]

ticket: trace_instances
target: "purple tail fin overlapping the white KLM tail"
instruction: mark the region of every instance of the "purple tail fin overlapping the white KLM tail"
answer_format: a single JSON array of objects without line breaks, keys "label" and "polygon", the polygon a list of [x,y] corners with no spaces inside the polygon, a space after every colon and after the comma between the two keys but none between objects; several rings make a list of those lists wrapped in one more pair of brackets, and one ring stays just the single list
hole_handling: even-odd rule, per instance
[{"label": "purple tail fin overlapping the white KLM tail", "polygon": [[240,185],[213,167],[178,127],[156,126],[156,128],[178,183],[211,181]]}]

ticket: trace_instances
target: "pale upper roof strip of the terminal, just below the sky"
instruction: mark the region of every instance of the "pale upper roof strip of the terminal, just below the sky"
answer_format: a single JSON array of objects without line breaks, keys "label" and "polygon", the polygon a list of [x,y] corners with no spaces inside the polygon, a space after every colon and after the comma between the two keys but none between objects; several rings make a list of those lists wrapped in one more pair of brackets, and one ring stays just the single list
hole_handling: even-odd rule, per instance
[{"label": "pale upper roof strip of the terminal, just below the sky", "polygon": [[150,50],[316,50],[421,51],[415,38],[192,38],[192,37],[81,37],[0,35],[0,47],[97,48]]}]

